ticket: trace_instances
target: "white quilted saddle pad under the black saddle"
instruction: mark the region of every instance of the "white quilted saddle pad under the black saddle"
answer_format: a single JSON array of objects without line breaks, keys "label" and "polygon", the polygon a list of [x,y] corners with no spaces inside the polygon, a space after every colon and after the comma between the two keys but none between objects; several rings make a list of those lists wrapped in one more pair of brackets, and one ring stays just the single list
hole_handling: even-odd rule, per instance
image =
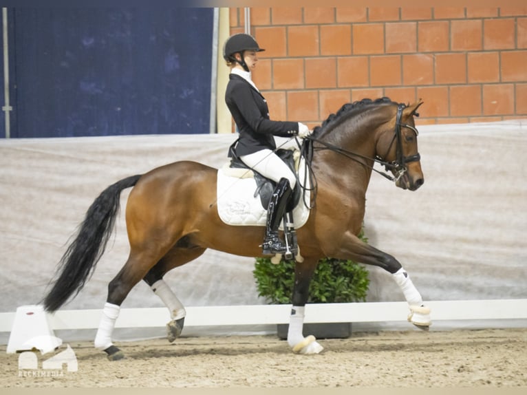
[{"label": "white quilted saddle pad under the black saddle", "polygon": [[[299,179],[304,180],[304,167],[299,168]],[[218,169],[216,205],[222,221],[234,226],[266,226],[267,210],[261,206],[260,196],[254,196],[255,190],[256,181],[252,177],[252,171],[230,169],[228,164]],[[309,204],[309,191],[306,191],[305,199],[303,196],[300,197],[299,203],[293,210],[295,229],[308,221],[310,210],[305,206],[304,200]],[[280,228],[283,230],[282,224]]]}]

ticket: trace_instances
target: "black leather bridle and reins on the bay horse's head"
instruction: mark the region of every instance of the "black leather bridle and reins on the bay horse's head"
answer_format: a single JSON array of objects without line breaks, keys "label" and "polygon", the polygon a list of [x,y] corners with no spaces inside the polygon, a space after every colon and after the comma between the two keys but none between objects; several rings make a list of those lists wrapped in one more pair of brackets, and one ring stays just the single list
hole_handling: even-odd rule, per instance
[{"label": "black leather bridle and reins on the bay horse's head", "polygon": [[[417,162],[418,160],[420,160],[421,156],[419,153],[415,153],[411,156],[404,156],[404,154],[402,153],[402,136],[401,136],[401,127],[406,127],[408,129],[411,129],[415,134],[416,136],[418,136],[419,132],[418,130],[411,126],[411,125],[408,125],[407,123],[402,123],[402,110],[405,109],[405,107],[407,107],[406,105],[404,104],[399,104],[397,106],[397,117],[396,117],[396,127],[395,127],[395,133],[394,133],[394,137],[391,139],[391,142],[390,142],[390,145],[388,147],[388,150],[385,154],[385,156],[388,155],[389,151],[391,150],[391,147],[392,145],[394,145],[394,142],[396,142],[396,160],[392,161],[392,162],[386,162],[383,158],[381,158],[380,156],[376,156],[375,158],[368,158],[367,156],[363,156],[359,153],[354,153],[352,151],[347,151],[346,149],[343,149],[341,147],[337,147],[336,145],[332,145],[330,142],[325,142],[323,140],[319,140],[318,138],[314,138],[313,136],[309,136],[308,138],[306,138],[305,140],[309,140],[310,144],[307,144],[309,146],[312,146],[312,142],[317,142],[321,145],[324,146],[324,148],[318,148],[318,149],[329,149],[330,151],[334,151],[336,153],[340,153],[341,155],[345,156],[346,158],[349,158],[351,160],[354,160],[355,162],[358,162],[360,164],[362,164],[363,166],[365,167],[368,167],[369,169],[372,169],[373,171],[375,171],[376,173],[380,174],[380,175],[383,175],[383,177],[387,178],[388,180],[390,181],[394,181],[394,182],[397,182],[403,174],[406,173],[407,171],[407,163],[410,163],[410,162]],[[415,116],[419,116],[419,114],[417,113],[414,113]],[[311,147],[311,149],[309,149],[310,154],[306,156],[306,158],[309,158],[310,156],[312,156],[312,151],[314,150],[313,147]],[[374,169],[373,166],[369,166],[368,164],[365,164],[364,162],[362,162],[361,160],[358,160],[357,158],[363,158],[363,159],[366,159],[366,160],[372,160],[374,162],[377,162],[378,164],[380,164],[381,166],[384,166],[386,171],[392,171],[394,173],[394,176],[392,177],[391,175],[383,172],[383,171],[378,171],[377,169]]]}]

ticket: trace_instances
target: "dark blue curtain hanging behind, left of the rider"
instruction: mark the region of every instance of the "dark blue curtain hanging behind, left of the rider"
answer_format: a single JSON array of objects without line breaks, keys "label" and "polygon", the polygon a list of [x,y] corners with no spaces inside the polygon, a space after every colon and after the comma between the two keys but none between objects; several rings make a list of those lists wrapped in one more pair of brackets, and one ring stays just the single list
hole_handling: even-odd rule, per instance
[{"label": "dark blue curtain hanging behind, left of the rider", "polygon": [[12,19],[12,137],[209,133],[213,8],[14,8]]}]

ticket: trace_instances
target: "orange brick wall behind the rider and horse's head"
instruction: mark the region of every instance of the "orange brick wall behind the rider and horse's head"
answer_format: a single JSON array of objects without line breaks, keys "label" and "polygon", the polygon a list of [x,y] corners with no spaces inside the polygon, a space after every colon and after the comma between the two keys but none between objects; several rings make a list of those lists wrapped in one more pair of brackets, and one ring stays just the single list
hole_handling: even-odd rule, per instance
[{"label": "orange brick wall behind the rider and horse's head", "polygon": [[[244,32],[230,8],[230,33]],[[250,8],[271,118],[319,125],[344,103],[422,98],[418,124],[527,118],[524,8]]]}]

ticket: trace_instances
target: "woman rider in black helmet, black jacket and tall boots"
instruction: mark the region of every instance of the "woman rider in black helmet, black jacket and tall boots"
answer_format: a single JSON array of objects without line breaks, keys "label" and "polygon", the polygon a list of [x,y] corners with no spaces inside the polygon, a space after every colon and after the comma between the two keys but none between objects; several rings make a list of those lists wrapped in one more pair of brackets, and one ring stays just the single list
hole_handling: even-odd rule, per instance
[{"label": "woman rider in black helmet, black jacket and tall boots", "polygon": [[261,51],[264,49],[248,34],[234,34],[227,39],[224,59],[230,67],[230,75],[225,102],[239,131],[235,155],[251,169],[277,182],[268,206],[262,245],[264,255],[273,255],[285,253],[287,249],[278,235],[278,228],[297,182],[294,173],[275,154],[275,136],[305,138],[312,132],[301,122],[270,120],[266,99],[251,78],[258,62],[257,52]]}]

